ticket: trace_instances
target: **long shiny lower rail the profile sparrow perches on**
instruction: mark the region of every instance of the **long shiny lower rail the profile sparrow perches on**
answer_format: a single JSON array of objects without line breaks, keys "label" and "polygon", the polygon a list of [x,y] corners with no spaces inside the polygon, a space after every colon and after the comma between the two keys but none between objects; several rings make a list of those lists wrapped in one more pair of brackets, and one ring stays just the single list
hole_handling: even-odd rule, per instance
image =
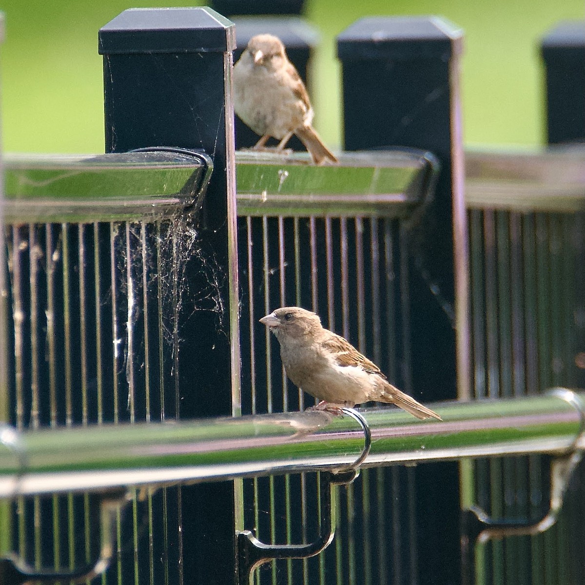
[{"label": "long shiny lower rail the profile sparrow perches on", "polygon": [[[443,421],[397,408],[360,412],[371,431],[365,466],[585,448],[585,394],[431,404]],[[364,449],[352,417],[328,412],[192,422],[0,430],[0,496],[227,480],[344,469]]]}]

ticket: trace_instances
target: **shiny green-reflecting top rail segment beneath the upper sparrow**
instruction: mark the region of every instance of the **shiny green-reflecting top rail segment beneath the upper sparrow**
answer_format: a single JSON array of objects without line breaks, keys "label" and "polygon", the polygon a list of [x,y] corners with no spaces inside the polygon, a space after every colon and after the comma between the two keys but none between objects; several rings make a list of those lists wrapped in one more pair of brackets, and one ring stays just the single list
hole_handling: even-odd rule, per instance
[{"label": "shiny green-reflecting top rail segment beneath the upper sparrow", "polygon": [[239,215],[405,217],[430,194],[431,153],[393,149],[339,154],[315,166],[308,153],[236,153]]}]

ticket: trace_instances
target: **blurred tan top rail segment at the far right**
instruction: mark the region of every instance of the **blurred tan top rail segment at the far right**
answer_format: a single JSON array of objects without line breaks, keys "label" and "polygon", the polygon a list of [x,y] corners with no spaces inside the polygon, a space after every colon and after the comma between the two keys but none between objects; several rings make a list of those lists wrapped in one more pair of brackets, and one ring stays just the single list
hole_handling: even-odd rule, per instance
[{"label": "blurred tan top rail segment at the far right", "polygon": [[585,147],[533,151],[467,150],[465,202],[470,209],[585,210]]}]

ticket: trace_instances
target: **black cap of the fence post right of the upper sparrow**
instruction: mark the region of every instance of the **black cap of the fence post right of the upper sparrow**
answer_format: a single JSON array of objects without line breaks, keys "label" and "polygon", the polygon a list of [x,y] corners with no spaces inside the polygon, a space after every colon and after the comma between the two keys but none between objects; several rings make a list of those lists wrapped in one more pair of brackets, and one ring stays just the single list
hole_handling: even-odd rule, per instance
[{"label": "black cap of the fence post right of the upper sparrow", "polygon": [[337,37],[339,59],[440,59],[463,50],[463,30],[435,16],[369,16]]}]

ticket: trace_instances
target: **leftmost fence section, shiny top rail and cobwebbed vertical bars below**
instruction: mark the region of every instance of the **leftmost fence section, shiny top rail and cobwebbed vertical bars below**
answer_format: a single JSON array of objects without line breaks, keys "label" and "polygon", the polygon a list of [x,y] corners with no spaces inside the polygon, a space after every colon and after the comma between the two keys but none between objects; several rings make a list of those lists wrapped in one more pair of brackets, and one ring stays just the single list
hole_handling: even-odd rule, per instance
[{"label": "leftmost fence section, shiny top rail and cobwebbed vertical bars below", "polygon": [[[21,431],[174,419],[183,271],[204,254],[188,222],[205,192],[208,157],[174,150],[7,159],[2,418]],[[157,555],[180,541],[168,519],[178,515],[177,493],[146,498],[154,519],[141,562],[153,575]],[[94,556],[91,526],[99,526],[90,522],[94,504],[88,493],[5,503],[2,552],[37,568],[85,565]],[[136,498],[132,508],[137,514]],[[133,533],[114,516],[118,548]],[[112,572],[128,570],[121,556]]]}]

